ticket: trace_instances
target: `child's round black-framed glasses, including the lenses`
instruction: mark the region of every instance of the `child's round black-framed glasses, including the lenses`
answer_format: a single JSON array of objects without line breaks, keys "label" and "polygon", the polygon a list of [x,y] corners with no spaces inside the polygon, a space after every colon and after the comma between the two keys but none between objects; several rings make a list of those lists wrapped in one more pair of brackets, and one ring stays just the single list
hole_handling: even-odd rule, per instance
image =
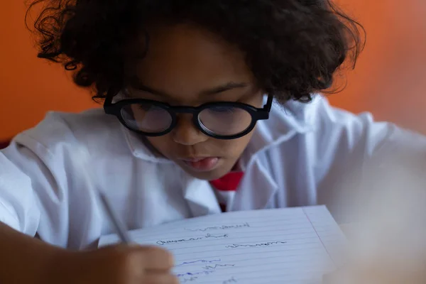
[{"label": "child's round black-framed glasses, including the lenses", "polygon": [[174,107],[149,99],[124,99],[112,103],[106,99],[104,111],[116,116],[121,124],[144,136],[163,136],[178,124],[178,114],[192,114],[192,122],[207,136],[235,139],[250,133],[258,120],[269,118],[273,96],[258,109],[240,102],[210,102],[200,107]]}]

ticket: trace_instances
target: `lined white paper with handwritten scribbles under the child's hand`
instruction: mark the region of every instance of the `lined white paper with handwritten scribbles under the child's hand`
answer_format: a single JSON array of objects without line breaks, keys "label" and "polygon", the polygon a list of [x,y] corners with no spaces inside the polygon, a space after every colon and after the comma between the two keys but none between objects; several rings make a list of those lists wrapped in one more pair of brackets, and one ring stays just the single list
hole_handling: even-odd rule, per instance
[{"label": "lined white paper with handwritten scribbles under the child's hand", "polygon": [[[180,283],[321,283],[345,241],[324,206],[229,212],[131,231],[173,252]],[[104,236],[99,246],[118,242]]]}]

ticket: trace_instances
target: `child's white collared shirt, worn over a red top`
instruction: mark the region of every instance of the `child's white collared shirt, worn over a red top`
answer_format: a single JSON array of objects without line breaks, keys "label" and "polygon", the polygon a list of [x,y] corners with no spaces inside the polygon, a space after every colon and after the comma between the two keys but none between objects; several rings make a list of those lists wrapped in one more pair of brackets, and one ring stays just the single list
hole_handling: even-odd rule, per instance
[{"label": "child's white collared shirt, worn over a red top", "polygon": [[[80,159],[82,148],[88,164]],[[364,163],[395,148],[405,156],[425,153],[425,138],[373,122],[369,114],[334,109],[319,96],[310,104],[275,104],[241,156],[244,178],[227,207],[327,204],[339,218]],[[0,221],[30,236],[83,249],[112,233],[96,189],[129,229],[221,212],[209,182],[151,153],[102,109],[51,112],[0,152]]]}]

